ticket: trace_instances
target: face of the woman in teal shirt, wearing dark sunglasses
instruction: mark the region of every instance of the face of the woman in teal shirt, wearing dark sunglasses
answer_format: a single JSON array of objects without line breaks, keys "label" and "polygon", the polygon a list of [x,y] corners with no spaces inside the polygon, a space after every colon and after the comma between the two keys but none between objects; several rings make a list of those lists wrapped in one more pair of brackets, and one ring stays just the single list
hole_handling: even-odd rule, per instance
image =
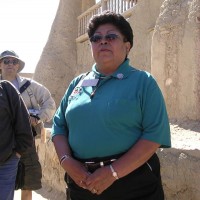
[{"label": "face of the woman in teal shirt, wearing dark sunglasses", "polygon": [[124,42],[124,36],[112,24],[100,25],[90,41],[98,68],[112,67],[116,70],[130,50],[130,42]]}]

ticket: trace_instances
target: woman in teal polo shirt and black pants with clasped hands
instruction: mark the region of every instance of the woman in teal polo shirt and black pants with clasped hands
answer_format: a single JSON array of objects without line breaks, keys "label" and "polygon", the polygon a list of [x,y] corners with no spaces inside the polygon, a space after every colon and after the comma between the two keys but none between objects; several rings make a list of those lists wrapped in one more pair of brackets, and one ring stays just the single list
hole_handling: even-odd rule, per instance
[{"label": "woman in teal polo shirt and black pants with clasped hands", "polygon": [[72,200],[163,200],[159,147],[170,147],[162,93],[133,68],[130,24],[106,11],[88,26],[95,64],[69,85],[55,114],[52,141]]}]

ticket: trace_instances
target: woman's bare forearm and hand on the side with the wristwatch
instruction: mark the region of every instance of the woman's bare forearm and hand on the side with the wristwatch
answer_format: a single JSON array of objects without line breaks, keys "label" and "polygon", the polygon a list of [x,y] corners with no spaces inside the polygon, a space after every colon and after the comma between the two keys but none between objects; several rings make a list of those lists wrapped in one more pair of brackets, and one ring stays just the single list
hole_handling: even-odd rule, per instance
[{"label": "woman's bare forearm and hand on the side with the wristwatch", "polygon": [[[118,178],[122,178],[142,166],[156,152],[160,144],[148,140],[139,140],[128,152],[112,163]],[[96,194],[106,190],[116,178],[113,176],[109,166],[97,169],[86,181],[86,188],[92,192],[95,188]]]}]

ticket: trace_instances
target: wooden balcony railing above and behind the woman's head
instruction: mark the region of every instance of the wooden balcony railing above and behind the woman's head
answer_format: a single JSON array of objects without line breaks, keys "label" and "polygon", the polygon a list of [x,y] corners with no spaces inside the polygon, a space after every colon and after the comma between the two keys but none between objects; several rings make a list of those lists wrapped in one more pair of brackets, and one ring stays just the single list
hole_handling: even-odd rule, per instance
[{"label": "wooden balcony railing above and behind the woman's head", "polygon": [[83,42],[87,39],[87,24],[89,19],[104,10],[111,10],[122,14],[125,18],[130,17],[130,8],[137,4],[137,0],[101,0],[87,11],[78,16],[78,38],[77,42]]}]

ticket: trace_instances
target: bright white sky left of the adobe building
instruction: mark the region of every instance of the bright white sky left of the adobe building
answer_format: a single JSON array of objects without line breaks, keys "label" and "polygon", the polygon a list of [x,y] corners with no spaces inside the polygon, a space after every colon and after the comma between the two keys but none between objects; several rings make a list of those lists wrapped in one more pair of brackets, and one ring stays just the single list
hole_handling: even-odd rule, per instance
[{"label": "bright white sky left of the adobe building", "polygon": [[14,50],[34,73],[46,45],[59,0],[0,0],[0,53]]}]

